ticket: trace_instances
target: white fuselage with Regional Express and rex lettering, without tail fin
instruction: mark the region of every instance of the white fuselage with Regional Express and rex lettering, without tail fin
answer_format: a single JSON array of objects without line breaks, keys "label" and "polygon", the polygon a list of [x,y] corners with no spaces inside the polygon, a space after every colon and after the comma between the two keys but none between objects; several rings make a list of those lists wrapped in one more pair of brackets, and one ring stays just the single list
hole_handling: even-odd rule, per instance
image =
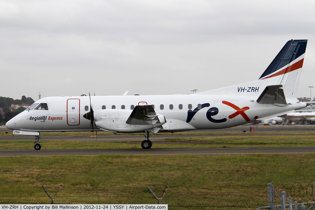
[{"label": "white fuselage with Regional Express and rex lettering, without tail fin", "polygon": [[[124,122],[134,106],[154,105],[156,114],[163,115],[166,119],[159,132],[235,127],[305,107],[305,103],[292,98],[287,98],[288,105],[285,106],[259,104],[256,102],[258,96],[259,94],[91,96],[91,103],[94,111],[103,110],[106,113],[110,109],[123,109],[126,113]],[[6,127],[38,132],[92,131],[91,121],[83,117],[90,111],[88,96],[47,97],[35,103],[46,103],[48,110],[26,109],[7,122]],[[122,121],[116,118],[110,120],[112,127],[106,128],[106,131],[139,132],[119,129]],[[95,120],[102,121],[101,118]],[[99,128],[94,127],[94,130]]]}]

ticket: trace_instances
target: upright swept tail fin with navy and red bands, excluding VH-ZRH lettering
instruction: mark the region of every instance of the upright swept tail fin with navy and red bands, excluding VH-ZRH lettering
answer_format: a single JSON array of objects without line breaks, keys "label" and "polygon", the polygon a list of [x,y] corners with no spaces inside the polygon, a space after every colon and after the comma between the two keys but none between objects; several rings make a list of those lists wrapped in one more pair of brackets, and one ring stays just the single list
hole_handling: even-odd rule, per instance
[{"label": "upright swept tail fin with navy and red bands, excluding VH-ZRH lettering", "polygon": [[296,97],[307,39],[290,40],[280,50],[259,80],[282,85],[286,97]]}]

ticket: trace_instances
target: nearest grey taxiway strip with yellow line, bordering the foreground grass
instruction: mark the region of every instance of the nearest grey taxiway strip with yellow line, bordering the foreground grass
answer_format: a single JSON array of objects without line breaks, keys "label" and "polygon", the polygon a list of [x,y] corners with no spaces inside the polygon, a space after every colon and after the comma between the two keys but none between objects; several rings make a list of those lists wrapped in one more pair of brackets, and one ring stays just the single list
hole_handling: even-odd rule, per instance
[{"label": "nearest grey taxiway strip with yellow line, bordering the foreground grass", "polygon": [[255,147],[255,148],[192,148],[192,149],[65,149],[65,150],[0,150],[0,156],[66,156],[66,155],[247,155],[247,154],[315,154],[315,147]]}]

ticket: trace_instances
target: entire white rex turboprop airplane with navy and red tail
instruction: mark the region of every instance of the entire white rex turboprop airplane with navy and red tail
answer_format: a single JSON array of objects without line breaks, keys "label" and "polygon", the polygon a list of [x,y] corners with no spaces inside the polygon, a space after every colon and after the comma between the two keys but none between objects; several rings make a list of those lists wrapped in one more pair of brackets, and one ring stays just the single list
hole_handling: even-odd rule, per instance
[{"label": "entire white rex turboprop airplane with navy and red tail", "polygon": [[[37,100],[6,123],[14,134],[39,132],[151,133],[221,129],[291,113],[306,103],[296,99],[307,40],[288,41],[253,82],[189,95],[60,96]],[[93,105],[93,108],[92,108]]]}]

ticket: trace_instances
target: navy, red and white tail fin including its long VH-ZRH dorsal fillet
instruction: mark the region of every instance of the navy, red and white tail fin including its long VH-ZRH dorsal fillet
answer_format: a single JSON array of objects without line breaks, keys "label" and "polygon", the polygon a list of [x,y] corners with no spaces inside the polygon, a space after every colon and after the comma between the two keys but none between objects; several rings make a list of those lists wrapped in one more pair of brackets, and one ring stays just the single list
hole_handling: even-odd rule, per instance
[{"label": "navy, red and white tail fin including its long VH-ZRH dorsal fillet", "polygon": [[[274,95],[275,97],[296,97],[302,71],[307,39],[290,40],[280,50],[261,77],[252,82],[232,85],[224,88],[208,90],[197,94],[264,94],[261,95],[261,103],[269,103],[265,98]],[[281,94],[277,94],[281,91]],[[276,95],[275,95],[276,94]],[[264,97],[263,97],[264,96]],[[281,100],[284,104],[285,101]],[[276,103],[276,102],[275,102]]]}]

